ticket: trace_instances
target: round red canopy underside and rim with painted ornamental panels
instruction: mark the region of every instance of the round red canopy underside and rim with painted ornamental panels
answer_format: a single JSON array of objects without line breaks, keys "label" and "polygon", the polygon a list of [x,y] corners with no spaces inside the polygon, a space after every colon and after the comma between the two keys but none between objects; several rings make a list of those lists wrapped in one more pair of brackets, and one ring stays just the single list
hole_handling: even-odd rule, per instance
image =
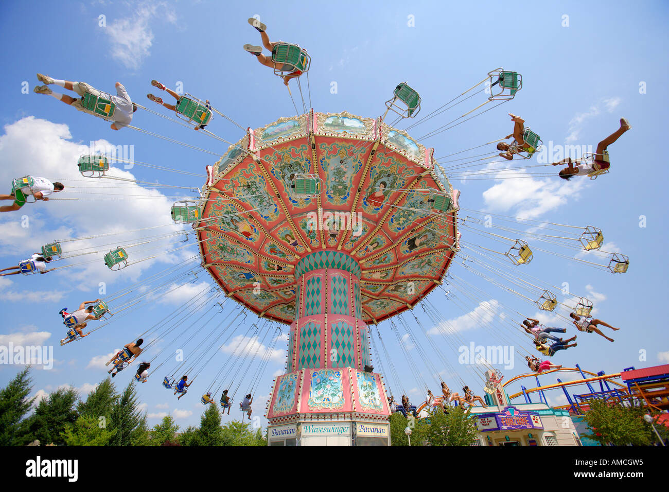
[{"label": "round red canopy underside and rim with painted ornamental panels", "polygon": [[[458,191],[426,149],[379,119],[313,112],[248,129],[203,188],[203,266],[262,317],[296,317],[300,259],[345,252],[363,320],[410,309],[458,248]],[[299,264],[298,264],[299,263]],[[359,267],[359,268],[358,268]]]}]

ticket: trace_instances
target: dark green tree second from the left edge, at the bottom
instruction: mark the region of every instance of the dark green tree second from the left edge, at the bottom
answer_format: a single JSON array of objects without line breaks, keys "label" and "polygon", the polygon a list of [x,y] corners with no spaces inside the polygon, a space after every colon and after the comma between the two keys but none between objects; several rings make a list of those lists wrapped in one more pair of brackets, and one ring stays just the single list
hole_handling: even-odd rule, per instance
[{"label": "dark green tree second from the left edge, at the bottom", "polygon": [[23,442],[39,439],[40,444],[65,444],[62,432],[67,424],[74,424],[78,414],[74,405],[78,398],[77,391],[70,388],[61,388],[39,402],[35,413],[25,419],[27,430]]}]

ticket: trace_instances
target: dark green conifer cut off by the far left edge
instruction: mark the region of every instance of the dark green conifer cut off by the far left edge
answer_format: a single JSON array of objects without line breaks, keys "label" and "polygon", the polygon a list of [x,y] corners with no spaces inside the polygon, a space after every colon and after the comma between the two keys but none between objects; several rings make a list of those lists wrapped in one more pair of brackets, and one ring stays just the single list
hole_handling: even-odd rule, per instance
[{"label": "dark green conifer cut off by the far left edge", "polygon": [[19,372],[0,390],[0,446],[13,446],[21,434],[21,422],[33,406],[35,398],[28,398],[32,380],[30,366]]}]

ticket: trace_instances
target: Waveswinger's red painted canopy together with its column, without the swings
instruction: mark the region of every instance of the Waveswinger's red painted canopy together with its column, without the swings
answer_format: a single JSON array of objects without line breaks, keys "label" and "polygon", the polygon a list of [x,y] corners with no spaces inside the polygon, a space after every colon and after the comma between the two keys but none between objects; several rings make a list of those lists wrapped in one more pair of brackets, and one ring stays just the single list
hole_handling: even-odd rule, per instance
[{"label": "Waveswinger's red painted canopy together with its column, without the swings", "polygon": [[268,444],[389,445],[368,327],[413,309],[458,249],[458,191],[433,152],[382,118],[311,110],[248,129],[213,167],[192,223],[203,266],[290,325]]}]

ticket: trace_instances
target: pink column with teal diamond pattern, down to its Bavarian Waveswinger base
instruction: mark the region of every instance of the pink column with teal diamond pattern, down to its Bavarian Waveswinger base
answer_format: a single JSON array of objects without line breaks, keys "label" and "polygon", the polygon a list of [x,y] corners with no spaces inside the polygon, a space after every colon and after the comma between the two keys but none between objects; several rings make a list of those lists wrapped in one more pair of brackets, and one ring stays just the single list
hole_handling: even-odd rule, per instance
[{"label": "pink column with teal diamond pattern, down to its Bavarian Waveswinger base", "polygon": [[270,445],[385,445],[390,410],[371,365],[360,294],[362,268],[337,250],[304,256],[295,268],[296,319],[286,374],[268,406]]}]

